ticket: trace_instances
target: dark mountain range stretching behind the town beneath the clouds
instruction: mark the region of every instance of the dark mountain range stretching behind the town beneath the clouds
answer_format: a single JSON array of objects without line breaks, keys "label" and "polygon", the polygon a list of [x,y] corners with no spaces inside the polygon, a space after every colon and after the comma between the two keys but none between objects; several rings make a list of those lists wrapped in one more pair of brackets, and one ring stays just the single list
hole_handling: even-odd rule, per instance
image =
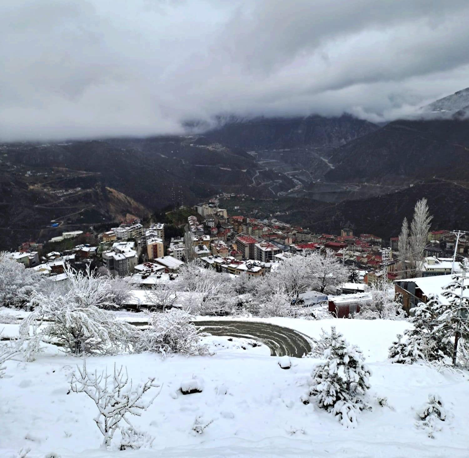
[{"label": "dark mountain range stretching behind the town beneath the clouds", "polygon": [[386,236],[428,195],[433,226],[459,227],[468,106],[465,89],[384,126],[348,114],[233,118],[186,136],[0,144],[0,249],[221,191],[280,202],[284,219],[315,231],[351,225]]}]

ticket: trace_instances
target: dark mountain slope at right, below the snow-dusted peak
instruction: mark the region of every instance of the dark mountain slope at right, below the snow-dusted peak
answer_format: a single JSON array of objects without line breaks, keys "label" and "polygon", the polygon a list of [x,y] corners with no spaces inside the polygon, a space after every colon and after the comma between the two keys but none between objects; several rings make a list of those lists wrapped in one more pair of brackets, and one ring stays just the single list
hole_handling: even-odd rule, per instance
[{"label": "dark mountain slope at right, below the snow-dusted peak", "polygon": [[333,151],[329,181],[469,180],[469,121],[398,120]]}]

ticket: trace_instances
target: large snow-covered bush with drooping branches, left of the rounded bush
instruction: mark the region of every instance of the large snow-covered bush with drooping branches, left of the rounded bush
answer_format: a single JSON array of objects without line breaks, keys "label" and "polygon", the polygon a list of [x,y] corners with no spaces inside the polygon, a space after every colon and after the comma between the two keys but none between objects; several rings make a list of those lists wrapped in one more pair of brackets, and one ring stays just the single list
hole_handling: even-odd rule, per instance
[{"label": "large snow-covered bush with drooping branches, left of the rounded bush", "polygon": [[[112,307],[113,293],[108,278],[95,278],[90,270],[77,272],[66,268],[68,291],[47,296],[34,293],[30,302],[33,312],[20,327],[23,337],[52,339],[70,353],[113,353],[129,349],[138,330],[118,321],[104,308]],[[38,327],[44,324],[44,328]]]}]

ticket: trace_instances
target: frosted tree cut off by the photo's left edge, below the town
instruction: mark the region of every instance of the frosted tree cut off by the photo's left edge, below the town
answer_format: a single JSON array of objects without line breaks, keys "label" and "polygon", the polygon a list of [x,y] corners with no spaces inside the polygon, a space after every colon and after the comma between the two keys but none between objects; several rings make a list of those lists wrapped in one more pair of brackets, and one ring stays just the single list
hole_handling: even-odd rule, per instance
[{"label": "frosted tree cut off by the photo's left edge, below the town", "polygon": [[6,251],[0,252],[0,307],[22,307],[31,294],[50,282],[32,269],[10,258]]}]

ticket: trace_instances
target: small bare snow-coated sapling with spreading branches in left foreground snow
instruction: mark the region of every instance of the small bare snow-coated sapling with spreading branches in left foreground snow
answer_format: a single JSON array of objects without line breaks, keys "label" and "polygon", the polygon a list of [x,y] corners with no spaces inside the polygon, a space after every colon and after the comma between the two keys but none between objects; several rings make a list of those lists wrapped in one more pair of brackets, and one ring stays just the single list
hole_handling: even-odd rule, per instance
[{"label": "small bare snow-coated sapling with spreading branches in left foreground snow", "polygon": [[86,369],[86,361],[83,360],[83,368],[77,366],[70,382],[71,390],[75,393],[85,393],[98,407],[98,415],[94,418],[99,431],[104,436],[102,448],[107,448],[112,441],[114,432],[123,419],[129,426],[129,420],[125,415],[141,416],[159,395],[144,400],[144,394],[153,387],[159,387],[155,378],[149,378],[145,383],[137,386],[129,380],[127,368],[117,369],[114,364],[113,375],[97,371],[89,373]]}]

